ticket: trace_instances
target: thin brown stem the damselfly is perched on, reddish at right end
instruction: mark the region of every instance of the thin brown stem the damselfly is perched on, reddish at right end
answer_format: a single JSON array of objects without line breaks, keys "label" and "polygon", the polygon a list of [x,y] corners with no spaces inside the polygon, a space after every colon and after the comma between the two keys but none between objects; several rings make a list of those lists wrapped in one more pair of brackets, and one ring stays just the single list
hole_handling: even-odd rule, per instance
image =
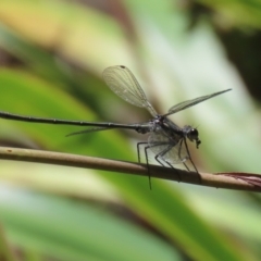
[{"label": "thin brown stem the damselfly is perched on, reddish at right end", "polygon": [[[146,164],[42,150],[0,147],[0,159],[95,169],[117,172],[122,174],[148,176]],[[196,172],[187,172],[178,169],[163,167],[158,165],[150,165],[149,171],[151,177],[162,179],[197,184],[215,188],[261,191],[261,186],[257,185],[259,182],[261,184],[261,176],[257,174],[200,173],[201,183],[199,183],[198,173]],[[182,177],[182,181],[179,181],[179,177]],[[254,183],[251,183],[252,179],[254,179]]]}]

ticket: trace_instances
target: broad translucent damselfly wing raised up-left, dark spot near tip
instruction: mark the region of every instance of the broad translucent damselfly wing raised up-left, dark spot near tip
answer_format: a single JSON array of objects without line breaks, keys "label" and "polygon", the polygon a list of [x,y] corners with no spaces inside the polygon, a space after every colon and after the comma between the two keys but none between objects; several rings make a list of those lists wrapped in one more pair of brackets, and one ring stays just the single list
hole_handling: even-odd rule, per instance
[{"label": "broad translucent damselfly wing raised up-left, dark spot near tip", "polygon": [[123,100],[136,107],[146,108],[152,116],[158,114],[149,103],[138,80],[127,67],[124,65],[108,67],[103,71],[102,76],[111,90]]}]

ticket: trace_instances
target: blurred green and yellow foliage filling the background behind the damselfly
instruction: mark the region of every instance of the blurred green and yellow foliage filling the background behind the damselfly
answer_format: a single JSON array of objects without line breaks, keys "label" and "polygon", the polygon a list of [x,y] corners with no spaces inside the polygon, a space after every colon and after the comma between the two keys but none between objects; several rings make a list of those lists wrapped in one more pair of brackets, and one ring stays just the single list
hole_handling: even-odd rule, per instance
[{"label": "blurred green and yellow foliage filling the background behind the damselfly", "polygon": [[[149,120],[102,82],[117,64],[134,72],[159,112],[233,88],[173,120],[199,125],[202,146],[190,149],[200,171],[259,173],[260,115],[248,95],[260,99],[250,84],[259,80],[259,46],[247,44],[260,34],[260,12],[258,0],[1,0],[0,110]],[[257,66],[241,66],[240,52]],[[136,161],[136,142],[147,138],[65,137],[78,129],[1,120],[0,141]],[[156,179],[149,190],[147,178],[45,164],[1,161],[0,170],[0,222],[17,260],[260,260],[258,195]]]}]

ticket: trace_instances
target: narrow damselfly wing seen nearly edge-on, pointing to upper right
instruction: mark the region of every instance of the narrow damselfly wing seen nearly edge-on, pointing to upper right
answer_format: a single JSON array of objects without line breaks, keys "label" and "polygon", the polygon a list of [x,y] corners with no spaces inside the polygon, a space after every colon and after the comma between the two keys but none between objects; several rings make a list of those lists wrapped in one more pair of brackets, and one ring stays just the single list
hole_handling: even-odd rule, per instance
[{"label": "narrow damselfly wing seen nearly edge-on, pointing to upper right", "polygon": [[172,107],[170,110],[169,110],[169,113],[164,114],[165,116],[170,115],[170,114],[173,114],[173,113],[176,113],[178,111],[182,111],[182,110],[185,110],[189,107],[192,107],[192,105],[196,105],[198,104],[199,102],[202,102],[204,100],[208,100],[210,98],[213,98],[215,96],[219,96],[219,95],[222,95],[226,91],[228,91],[231,89],[226,89],[226,90],[222,90],[222,91],[219,91],[219,92],[214,92],[212,95],[208,95],[208,96],[201,96],[201,97],[198,97],[196,99],[192,99],[192,100],[187,100],[187,101],[183,101],[181,103],[177,103],[176,105]]}]

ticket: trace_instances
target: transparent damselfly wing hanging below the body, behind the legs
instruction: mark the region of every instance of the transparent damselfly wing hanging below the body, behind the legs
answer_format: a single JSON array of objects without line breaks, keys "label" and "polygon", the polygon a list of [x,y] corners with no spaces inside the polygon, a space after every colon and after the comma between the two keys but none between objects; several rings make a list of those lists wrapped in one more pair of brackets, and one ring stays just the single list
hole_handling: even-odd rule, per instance
[{"label": "transparent damselfly wing hanging below the body, behind the legs", "polygon": [[175,141],[170,139],[163,132],[156,132],[149,136],[148,144],[156,156],[171,164],[183,163],[189,159],[186,148],[181,138]]}]

